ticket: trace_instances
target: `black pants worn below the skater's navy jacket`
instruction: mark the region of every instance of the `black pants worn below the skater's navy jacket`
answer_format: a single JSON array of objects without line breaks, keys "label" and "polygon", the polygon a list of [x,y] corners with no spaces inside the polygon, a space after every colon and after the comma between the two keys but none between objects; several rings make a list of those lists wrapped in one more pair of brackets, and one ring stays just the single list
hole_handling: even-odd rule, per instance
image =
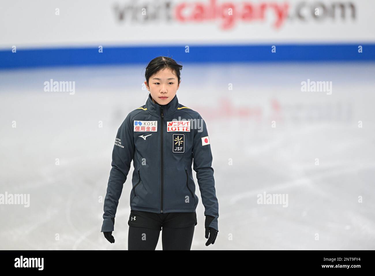
[{"label": "black pants worn below the skater's navy jacket", "polygon": [[196,213],[130,211],[128,250],[155,250],[162,230],[163,250],[190,250]]}]

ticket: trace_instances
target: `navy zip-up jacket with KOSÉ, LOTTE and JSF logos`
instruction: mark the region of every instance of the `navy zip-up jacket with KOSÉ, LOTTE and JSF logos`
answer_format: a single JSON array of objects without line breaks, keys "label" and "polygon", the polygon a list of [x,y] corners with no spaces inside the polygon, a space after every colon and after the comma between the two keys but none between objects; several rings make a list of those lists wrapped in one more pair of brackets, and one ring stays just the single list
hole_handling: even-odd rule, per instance
[{"label": "navy zip-up jacket with KOS\u00c9, LOTTE and JSF logos", "polygon": [[206,124],[198,112],[179,104],[177,95],[168,104],[159,105],[149,94],[146,104],[130,112],[118,128],[101,232],[114,231],[112,219],[132,160],[132,210],[195,212],[199,199],[195,195],[193,165],[204,214],[212,217],[209,226],[219,231],[219,204]]}]

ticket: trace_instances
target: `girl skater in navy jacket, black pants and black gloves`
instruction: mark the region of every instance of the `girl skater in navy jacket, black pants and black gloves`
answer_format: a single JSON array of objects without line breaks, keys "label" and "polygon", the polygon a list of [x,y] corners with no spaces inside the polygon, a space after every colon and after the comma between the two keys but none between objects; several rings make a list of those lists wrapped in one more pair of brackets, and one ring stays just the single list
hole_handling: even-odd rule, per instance
[{"label": "girl skater in navy jacket, black pants and black gloves", "polygon": [[219,231],[210,140],[199,113],[178,103],[181,68],[169,57],[151,60],[145,71],[147,102],[118,128],[101,232],[114,243],[118,200],[133,160],[129,250],[155,250],[161,229],[163,250],[190,250],[199,202],[192,165],[205,208],[206,246]]}]

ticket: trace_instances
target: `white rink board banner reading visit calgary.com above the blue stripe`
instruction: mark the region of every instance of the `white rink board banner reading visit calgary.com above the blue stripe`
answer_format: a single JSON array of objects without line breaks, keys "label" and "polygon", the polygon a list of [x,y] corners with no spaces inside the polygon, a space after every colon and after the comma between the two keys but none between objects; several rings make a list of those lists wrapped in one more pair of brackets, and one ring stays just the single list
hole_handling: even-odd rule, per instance
[{"label": "white rink board banner reading visit calgary.com above the blue stripe", "polygon": [[375,41],[375,2],[3,1],[0,47]]}]

